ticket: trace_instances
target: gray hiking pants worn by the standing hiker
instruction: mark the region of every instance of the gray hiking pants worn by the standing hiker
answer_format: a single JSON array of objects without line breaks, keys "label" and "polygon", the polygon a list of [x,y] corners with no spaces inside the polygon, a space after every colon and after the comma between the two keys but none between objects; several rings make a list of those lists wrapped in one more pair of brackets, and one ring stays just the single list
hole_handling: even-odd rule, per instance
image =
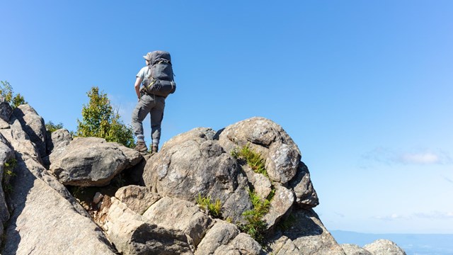
[{"label": "gray hiking pants worn by the standing hiker", "polygon": [[163,96],[149,96],[145,94],[140,98],[134,111],[132,111],[132,130],[134,130],[134,134],[137,136],[137,141],[144,141],[142,122],[148,113],[150,113],[153,145],[159,145],[164,108],[165,98]]}]

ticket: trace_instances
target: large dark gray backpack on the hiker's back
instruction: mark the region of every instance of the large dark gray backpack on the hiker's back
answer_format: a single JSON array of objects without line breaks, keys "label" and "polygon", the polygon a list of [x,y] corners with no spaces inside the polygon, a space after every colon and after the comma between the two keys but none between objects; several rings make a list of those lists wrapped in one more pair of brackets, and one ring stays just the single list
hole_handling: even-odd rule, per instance
[{"label": "large dark gray backpack on the hiker's back", "polygon": [[167,97],[176,91],[170,53],[161,50],[151,52],[149,77],[144,79],[143,85],[149,95]]}]

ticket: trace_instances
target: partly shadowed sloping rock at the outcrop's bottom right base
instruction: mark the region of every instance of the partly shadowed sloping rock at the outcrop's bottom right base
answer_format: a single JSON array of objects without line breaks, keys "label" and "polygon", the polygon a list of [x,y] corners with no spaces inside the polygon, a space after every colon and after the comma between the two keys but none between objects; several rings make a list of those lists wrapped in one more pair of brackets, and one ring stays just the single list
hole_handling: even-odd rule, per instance
[{"label": "partly shadowed sloping rock at the outcrop's bottom right base", "polygon": [[289,227],[270,238],[273,254],[345,255],[313,210],[293,210]]}]

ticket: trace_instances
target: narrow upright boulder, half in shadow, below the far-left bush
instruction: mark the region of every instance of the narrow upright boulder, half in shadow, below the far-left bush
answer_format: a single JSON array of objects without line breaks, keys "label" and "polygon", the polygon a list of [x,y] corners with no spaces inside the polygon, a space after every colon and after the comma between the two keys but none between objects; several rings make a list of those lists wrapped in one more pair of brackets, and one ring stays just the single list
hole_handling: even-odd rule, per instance
[{"label": "narrow upright boulder, half in shadow, below the far-left bush", "polygon": [[46,151],[46,135],[44,119],[35,109],[28,104],[18,106],[13,111],[13,118],[11,120],[18,120],[21,123],[23,130],[27,133],[30,140],[35,144],[40,157],[47,155]]}]

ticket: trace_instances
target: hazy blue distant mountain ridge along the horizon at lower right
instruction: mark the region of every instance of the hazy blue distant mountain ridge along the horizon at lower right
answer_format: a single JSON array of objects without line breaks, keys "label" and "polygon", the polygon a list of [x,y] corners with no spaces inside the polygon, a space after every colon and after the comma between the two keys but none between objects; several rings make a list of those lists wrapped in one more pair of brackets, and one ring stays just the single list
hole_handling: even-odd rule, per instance
[{"label": "hazy blue distant mountain ridge along the horizon at lower right", "polygon": [[453,254],[453,234],[367,234],[343,230],[332,230],[331,234],[338,244],[364,246],[376,239],[390,239],[408,255]]}]

